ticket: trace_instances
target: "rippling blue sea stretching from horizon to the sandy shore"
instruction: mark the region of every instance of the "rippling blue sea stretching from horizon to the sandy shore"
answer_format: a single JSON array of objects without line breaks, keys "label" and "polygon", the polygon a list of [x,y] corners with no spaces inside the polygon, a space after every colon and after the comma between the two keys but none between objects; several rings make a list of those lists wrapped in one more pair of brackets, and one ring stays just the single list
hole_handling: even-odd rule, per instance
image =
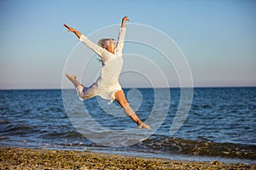
[{"label": "rippling blue sea stretching from horizon to the sandy shore", "polygon": [[184,90],[124,89],[151,130],[74,89],[0,90],[0,146],[256,164],[256,88]]}]

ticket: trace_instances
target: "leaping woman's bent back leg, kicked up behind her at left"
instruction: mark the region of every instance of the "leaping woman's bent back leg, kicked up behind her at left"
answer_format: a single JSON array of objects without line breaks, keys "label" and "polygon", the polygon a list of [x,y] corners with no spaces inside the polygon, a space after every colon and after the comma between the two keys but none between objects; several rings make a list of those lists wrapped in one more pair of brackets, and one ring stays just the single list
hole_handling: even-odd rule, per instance
[{"label": "leaping woman's bent back leg, kicked up behind her at left", "polygon": [[79,95],[79,99],[90,99],[96,96],[95,84],[92,84],[89,88],[85,88],[81,82],[77,81],[76,76],[69,74],[66,74],[66,76],[71,82],[73,82],[73,85]]}]

